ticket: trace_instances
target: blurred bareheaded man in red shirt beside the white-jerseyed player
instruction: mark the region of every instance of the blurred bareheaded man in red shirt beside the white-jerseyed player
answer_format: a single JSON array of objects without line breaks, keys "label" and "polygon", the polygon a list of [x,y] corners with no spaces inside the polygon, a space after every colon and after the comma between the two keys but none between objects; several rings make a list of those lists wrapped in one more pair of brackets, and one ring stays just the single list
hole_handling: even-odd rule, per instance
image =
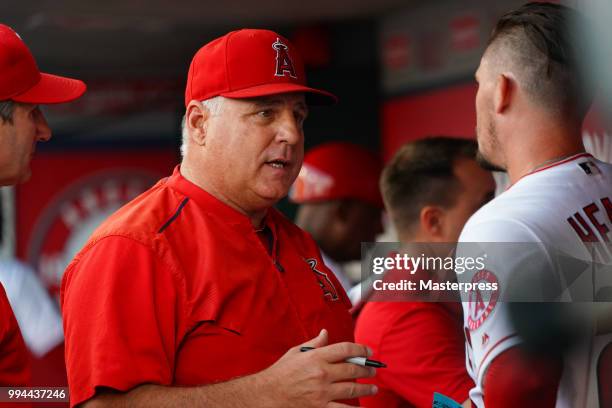
[{"label": "blurred bareheaded man in red shirt beside the white-jerseyed player", "polygon": [[[476,163],[472,140],[433,137],[405,144],[383,170],[381,192],[402,243],[457,242],[463,225],[495,193],[491,173]],[[451,248],[449,244],[449,249]],[[461,303],[368,302],[355,338],[387,363],[368,408],[431,407],[440,392],[469,407],[474,386],[465,368]],[[387,297],[388,299],[389,297]]]}]

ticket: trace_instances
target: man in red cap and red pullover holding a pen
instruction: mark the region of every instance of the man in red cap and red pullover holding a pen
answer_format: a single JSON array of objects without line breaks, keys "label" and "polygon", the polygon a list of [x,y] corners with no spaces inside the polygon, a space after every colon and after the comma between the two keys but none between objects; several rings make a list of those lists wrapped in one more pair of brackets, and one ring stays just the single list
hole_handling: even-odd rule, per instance
[{"label": "man in red cap and red pullover holding a pen", "polygon": [[[350,303],[313,240],[272,206],[303,159],[293,46],[231,32],[194,56],[183,160],[111,216],[66,269],[71,405],[346,407],[376,392],[345,363]],[[316,349],[300,352],[300,346]]]}]

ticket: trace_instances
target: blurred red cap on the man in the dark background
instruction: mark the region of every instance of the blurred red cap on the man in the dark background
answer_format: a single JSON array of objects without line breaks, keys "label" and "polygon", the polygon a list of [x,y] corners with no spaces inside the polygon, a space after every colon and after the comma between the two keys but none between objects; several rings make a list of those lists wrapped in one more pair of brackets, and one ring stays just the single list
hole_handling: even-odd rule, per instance
[{"label": "blurred red cap on the man in the dark background", "polygon": [[373,152],[348,142],[325,143],[304,156],[289,199],[304,204],[353,198],[383,208],[381,171],[382,162]]}]

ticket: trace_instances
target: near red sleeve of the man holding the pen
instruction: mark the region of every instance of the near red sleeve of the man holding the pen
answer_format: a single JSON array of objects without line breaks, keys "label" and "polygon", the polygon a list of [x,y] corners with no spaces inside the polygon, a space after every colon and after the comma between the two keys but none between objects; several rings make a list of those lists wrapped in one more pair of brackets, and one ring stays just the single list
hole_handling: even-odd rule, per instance
[{"label": "near red sleeve of the man holding the pen", "polygon": [[97,387],[171,383],[181,311],[175,282],[149,248],[118,236],[68,266],[61,303],[71,406]]}]

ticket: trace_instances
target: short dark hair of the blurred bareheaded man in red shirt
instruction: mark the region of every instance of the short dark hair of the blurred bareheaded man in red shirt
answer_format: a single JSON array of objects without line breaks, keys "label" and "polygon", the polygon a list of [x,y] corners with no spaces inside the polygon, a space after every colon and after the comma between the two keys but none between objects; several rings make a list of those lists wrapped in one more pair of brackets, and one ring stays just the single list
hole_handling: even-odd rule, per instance
[{"label": "short dark hair of the blurred bareheaded man in red shirt", "polygon": [[461,185],[454,173],[458,158],[476,159],[474,140],[434,136],[404,144],[385,166],[380,190],[398,230],[412,227],[421,208],[455,205]]}]

